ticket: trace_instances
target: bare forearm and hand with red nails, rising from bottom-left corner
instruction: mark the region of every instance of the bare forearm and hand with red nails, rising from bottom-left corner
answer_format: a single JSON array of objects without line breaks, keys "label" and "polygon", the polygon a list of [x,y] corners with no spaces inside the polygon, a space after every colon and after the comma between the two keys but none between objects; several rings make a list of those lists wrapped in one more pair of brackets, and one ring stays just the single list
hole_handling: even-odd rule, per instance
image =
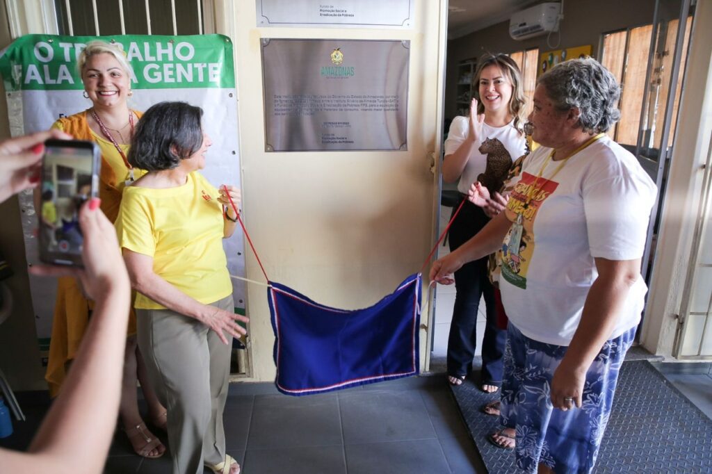
[{"label": "bare forearm and hand with red nails, rising from bottom-left corner", "polygon": [[73,275],[96,301],[63,388],[26,453],[0,449],[7,473],[98,474],[114,434],[121,394],[130,284],[114,226],[98,199],[80,211],[84,270],[36,267],[36,275]]}]

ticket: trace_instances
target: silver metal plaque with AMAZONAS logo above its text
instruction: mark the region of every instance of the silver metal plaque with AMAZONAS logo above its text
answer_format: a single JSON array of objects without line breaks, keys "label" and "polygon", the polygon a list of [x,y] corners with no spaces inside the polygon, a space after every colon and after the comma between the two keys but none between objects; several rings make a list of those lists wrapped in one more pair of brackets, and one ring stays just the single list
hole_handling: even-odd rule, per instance
[{"label": "silver metal plaque with AMAZONAS logo above its text", "polygon": [[409,46],[263,38],[266,151],[407,149]]}]

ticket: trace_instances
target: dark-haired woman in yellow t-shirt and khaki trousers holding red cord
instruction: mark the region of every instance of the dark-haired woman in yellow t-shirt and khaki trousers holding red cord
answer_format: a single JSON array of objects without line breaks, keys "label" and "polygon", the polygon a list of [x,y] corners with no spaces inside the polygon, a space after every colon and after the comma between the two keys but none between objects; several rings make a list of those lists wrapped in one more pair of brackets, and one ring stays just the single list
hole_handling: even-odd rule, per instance
[{"label": "dark-haired woman in yellow t-shirt and khaki trousers holding red cord", "polygon": [[211,145],[201,115],[185,102],[146,111],[128,159],[148,173],[125,189],[116,228],[137,290],[138,344],[168,408],[173,472],[236,474],[222,415],[231,340],[247,318],[234,312],[222,239],[235,231],[240,191],[218,191],[198,172]]}]

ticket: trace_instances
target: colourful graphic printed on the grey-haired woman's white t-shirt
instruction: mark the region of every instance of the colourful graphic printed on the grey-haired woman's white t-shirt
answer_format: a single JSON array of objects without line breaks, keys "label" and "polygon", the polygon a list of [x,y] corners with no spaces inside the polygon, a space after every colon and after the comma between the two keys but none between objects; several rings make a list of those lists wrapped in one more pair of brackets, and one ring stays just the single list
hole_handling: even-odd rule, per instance
[{"label": "colourful graphic printed on the grey-haired woman's white t-shirt", "polygon": [[518,288],[527,288],[527,270],[535,248],[534,219],[543,201],[557,186],[557,181],[524,172],[507,203],[505,212],[512,226],[504,237],[497,258],[501,263],[502,277]]}]

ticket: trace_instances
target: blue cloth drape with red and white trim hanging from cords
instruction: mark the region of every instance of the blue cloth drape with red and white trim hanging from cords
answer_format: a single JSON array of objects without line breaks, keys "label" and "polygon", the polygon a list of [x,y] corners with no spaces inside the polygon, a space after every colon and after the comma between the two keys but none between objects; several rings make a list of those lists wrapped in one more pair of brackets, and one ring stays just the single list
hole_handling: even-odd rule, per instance
[{"label": "blue cloth drape with red and white trim hanging from cords", "polygon": [[372,307],[339,310],[271,282],[275,384],[301,396],[419,372],[421,275]]}]

